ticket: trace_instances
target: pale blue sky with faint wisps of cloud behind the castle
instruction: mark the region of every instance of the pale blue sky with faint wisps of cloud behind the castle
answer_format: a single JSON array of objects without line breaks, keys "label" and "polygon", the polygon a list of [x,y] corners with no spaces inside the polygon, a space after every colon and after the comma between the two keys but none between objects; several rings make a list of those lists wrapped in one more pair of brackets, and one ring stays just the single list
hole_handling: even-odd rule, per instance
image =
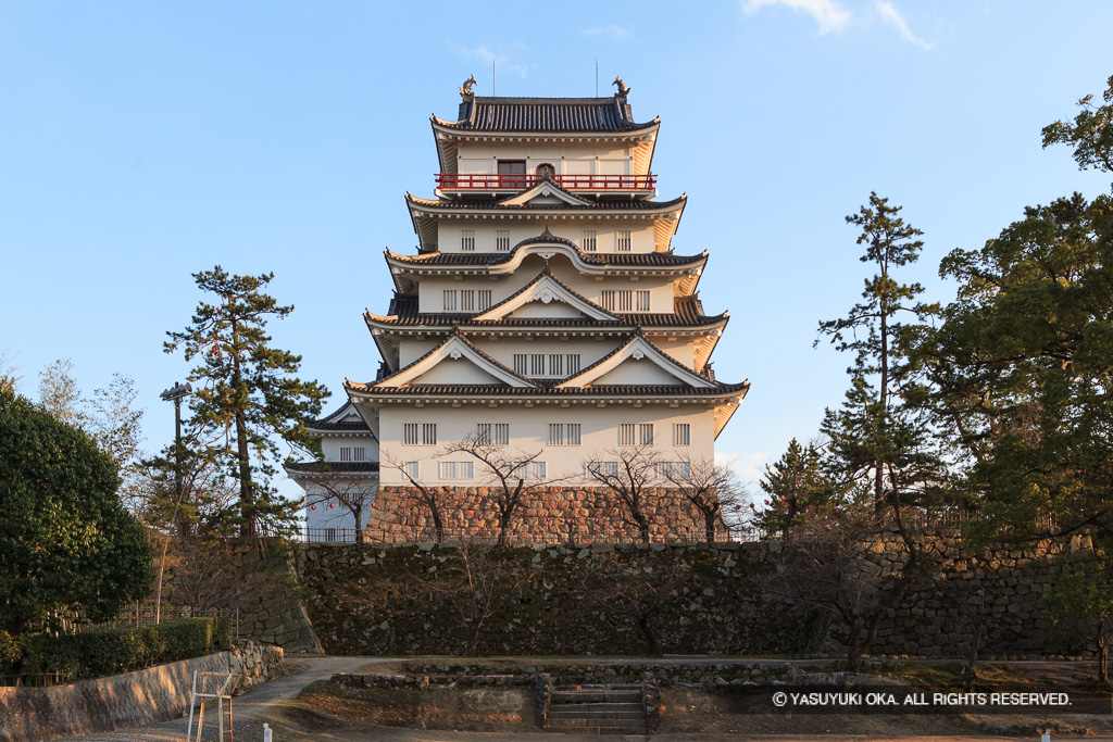
[{"label": "pale blue sky with faint wisps of cloud behind the castle", "polygon": [[[403,194],[431,196],[429,115],[477,92],[594,95],[621,75],[662,119],[674,245],[732,321],[715,357],[752,383],[719,452],[747,478],[838,405],[848,358],[812,349],[866,266],[843,217],[870,190],[926,233],[906,278],[946,300],[939,258],[1025,205],[1107,178],[1040,129],[1113,75],[1113,3],[742,0],[391,3],[0,1],[0,349],[32,395],[55,358],[82,387],[132,376],[147,447],[173,435],[162,354],[200,299],[190,273],[274,271],[272,326],[343,395],[378,357],[384,247],[412,250]],[[288,485],[286,492],[296,492]]]}]

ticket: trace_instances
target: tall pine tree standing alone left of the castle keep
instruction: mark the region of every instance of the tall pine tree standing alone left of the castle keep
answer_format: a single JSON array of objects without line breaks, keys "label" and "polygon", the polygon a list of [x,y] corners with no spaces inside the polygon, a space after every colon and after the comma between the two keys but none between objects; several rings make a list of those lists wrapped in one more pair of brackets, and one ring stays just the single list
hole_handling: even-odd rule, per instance
[{"label": "tall pine tree standing alone left of the castle keep", "polygon": [[302,357],[274,348],[267,320],[283,319],[293,306],[265,294],[274,274],[235,276],[220,266],[194,274],[198,288],[217,297],[197,306],[180,333],[167,333],[167,353],[181,349],[198,365],[189,375],[198,431],[198,454],[220,464],[239,484],[235,521],[240,535],[255,536],[260,524],[288,524],[294,504],[269,485],[279,456],[278,441],[321,458],[321,444],[306,423],[321,414],[328,392],[296,376]]}]

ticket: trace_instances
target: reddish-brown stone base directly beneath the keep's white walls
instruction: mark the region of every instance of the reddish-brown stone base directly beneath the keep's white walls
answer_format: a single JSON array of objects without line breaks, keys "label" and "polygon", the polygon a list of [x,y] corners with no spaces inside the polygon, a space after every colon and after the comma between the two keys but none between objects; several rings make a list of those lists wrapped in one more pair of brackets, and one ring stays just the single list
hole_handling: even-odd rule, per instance
[{"label": "reddish-brown stone base directly beneath the keep's white walls", "polygon": [[[445,533],[452,537],[499,534],[493,487],[433,487]],[[644,493],[642,513],[652,541],[701,541],[703,516],[676,489],[653,487]],[[638,527],[623,522],[623,511],[605,487],[534,487],[515,511],[509,528],[514,543],[623,543],[637,541]],[[723,533],[723,528],[719,528]],[[382,486],[364,530],[378,543],[434,541],[433,518],[415,487]]]}]

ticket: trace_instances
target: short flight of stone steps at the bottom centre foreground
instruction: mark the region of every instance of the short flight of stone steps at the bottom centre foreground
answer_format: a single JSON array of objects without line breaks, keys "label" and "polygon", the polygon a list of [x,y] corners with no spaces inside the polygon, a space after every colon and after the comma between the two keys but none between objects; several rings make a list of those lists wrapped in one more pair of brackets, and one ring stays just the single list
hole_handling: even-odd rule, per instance
[{"label": "short flight of stone steps at the bottom centre foreground", "polygon": [[578,734],[649,734],[646,689],[637,685],[554,685],[544,728]]}]

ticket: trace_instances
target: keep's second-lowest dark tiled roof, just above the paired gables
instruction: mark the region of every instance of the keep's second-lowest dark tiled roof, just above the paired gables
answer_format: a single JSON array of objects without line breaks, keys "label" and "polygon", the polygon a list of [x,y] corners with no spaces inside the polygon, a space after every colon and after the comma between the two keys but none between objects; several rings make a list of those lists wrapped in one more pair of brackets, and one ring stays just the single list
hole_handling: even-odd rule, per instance
[{"label": "keep's second-lowest dark tiled roof, just above the paired gables", "polygon": [[703,314],[703,305],[697,296],[678,296],[672,301],[673,311],[671,314],[623,314],[618,321],[603,321],[599,319],[579,319],[573,317],[561,317],[543,319],[538,317],[522,319],[482,319],[474,320],[471,314],[459,313],[425,313],[417,310],[417,297],[414,295],[395,294],[391,299],[388,317],[377,317],[380,321],[398,326],[453,326],[465,327],[690,327],[693,325],[715,325],[726,319],[726,315],[707,316]]}]

